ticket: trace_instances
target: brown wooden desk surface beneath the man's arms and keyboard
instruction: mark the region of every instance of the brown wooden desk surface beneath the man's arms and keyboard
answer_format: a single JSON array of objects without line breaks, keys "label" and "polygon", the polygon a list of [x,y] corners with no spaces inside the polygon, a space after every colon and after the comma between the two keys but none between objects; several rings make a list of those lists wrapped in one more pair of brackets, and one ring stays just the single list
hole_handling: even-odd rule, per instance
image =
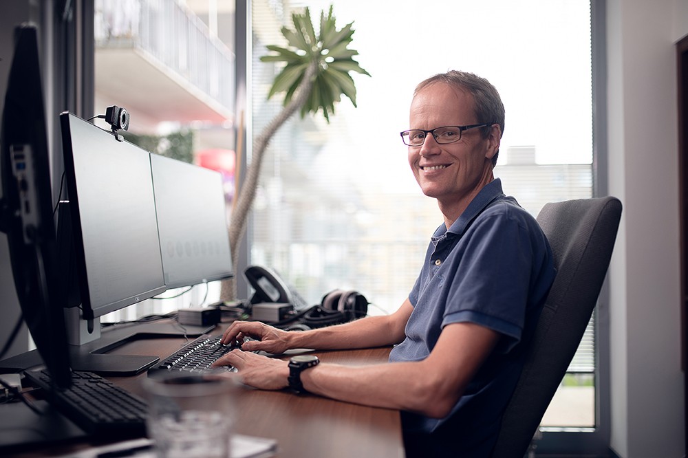
[{"label": "brown wooden desk surface beneath the man's arms and keyboard", "polygon": [[[219,331],[219,330],[218,330]],[[167,356],[184,342],[181,338],[129,342],[115,352]],[[315,351],[323,362],[373,364],[386,362],[388,348]],[[141,379],[109,377],[125,389],[142,395]],[[238,433],[277,439],[279,457],[403,457],[398,411],[338,402],[288,391],[260,391],[242,387],[237,397]]]}]

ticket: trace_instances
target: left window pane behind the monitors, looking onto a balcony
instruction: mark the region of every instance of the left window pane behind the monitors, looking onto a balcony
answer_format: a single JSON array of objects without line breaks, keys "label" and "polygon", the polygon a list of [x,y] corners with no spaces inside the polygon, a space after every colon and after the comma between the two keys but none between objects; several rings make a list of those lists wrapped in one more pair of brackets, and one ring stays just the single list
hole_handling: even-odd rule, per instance
[{"label": "left window pane behind the monitors, looking onto a balcony", "polygon": [[[191,3],[191,2],[190,2]],[[147,151],[220,171],[228,202],[235,166],[235,9],[233,1],[96,0],[95,106],[131,113],[127,140]],[[193,9],[191,9],[193,6]],[[102,120],[100,127],[108,129]],[[103,321],[202,306],[219,282],[165,292]]]}]

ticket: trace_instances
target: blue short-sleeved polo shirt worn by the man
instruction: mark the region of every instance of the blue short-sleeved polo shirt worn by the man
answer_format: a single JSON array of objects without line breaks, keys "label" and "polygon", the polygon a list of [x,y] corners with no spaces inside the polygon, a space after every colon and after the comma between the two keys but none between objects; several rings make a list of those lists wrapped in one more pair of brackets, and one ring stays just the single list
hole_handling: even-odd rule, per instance
[{"label": "blue short-sleeved polo shirt worn by the man", "polygon": [[407,456],[489,456],[523,367],[523,342],[533,334],[554,277],[540,226],[504,195],[499,179],[482,188],[449,229],[436,230],[409,294],[406,338],[389,360],[423,360],[451,323],[476,323],[501,338],[447,417],[402,412]]}]

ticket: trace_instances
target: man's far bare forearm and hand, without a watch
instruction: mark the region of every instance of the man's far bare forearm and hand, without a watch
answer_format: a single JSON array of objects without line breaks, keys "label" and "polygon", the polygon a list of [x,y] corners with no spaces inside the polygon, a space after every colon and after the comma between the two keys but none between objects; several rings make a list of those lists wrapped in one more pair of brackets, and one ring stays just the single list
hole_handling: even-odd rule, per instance
[{"label": "man's far bare forearm and hand, without a watch", "polygon": [[245,342],[244,351],[267,351],[279,354],[288,349],[354,349],[394,345],[405,338],[406,323],[413,306],[406,299],[391,315],[367,316],[343,325],[322,327],[310,331],[283,331],[256,321],[235,321],[222,336],[228,343],[244,337],[255,338]]}]

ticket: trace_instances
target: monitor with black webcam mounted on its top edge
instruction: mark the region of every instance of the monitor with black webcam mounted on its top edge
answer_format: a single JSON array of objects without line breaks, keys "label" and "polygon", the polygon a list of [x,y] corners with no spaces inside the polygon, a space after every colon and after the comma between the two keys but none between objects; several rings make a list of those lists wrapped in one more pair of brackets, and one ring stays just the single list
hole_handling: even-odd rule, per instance
[{"label": "monitor with black webcam mounted on its top edge", "polygon": [[74,255],[87,320],[164,292],[147,151],[60,115]]}]

